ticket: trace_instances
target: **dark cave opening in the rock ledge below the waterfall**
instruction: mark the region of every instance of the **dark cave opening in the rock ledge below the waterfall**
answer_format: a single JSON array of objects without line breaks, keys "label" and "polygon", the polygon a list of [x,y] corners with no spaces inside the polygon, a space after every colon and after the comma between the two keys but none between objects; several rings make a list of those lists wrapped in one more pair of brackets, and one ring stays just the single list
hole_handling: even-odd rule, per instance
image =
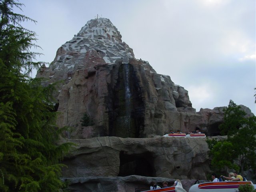
[{"label": "dark cave opening in the rock ledge below the waterfall", "polygon": [[151,153],[126,154],[120,152],[120,169],[118,176],[140,175],[155,177],[154,158]]}]

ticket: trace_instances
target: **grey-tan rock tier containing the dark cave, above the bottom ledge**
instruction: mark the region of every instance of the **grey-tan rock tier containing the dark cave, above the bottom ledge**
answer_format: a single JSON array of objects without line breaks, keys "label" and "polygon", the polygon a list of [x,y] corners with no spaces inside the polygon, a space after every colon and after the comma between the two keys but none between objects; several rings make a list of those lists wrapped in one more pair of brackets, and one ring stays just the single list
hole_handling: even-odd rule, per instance
[{"label": "grey-tan rock tier containing the dark cave, above the bottom ledge", "polygon": [[210,172],[205,138],[99,137],[69,140],[76,149],[65,158],[64,177],[140,175],[206,179]]}]

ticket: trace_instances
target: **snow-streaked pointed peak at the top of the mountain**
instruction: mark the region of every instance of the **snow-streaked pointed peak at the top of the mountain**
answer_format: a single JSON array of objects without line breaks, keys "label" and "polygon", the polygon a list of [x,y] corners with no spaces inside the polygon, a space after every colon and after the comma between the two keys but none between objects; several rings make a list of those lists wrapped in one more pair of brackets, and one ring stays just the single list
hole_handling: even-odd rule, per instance
[{"label": "snow-streaked pointed peak at the top of the mountain", "polygon": [[53,70],[76,70],[86,52],[96,50],[106,63],[121,58],[134,58],[132,48],[122,42],[117,28],[106,18],[92,19],[86,23],[72,40],[63,44],[52,63]]}]

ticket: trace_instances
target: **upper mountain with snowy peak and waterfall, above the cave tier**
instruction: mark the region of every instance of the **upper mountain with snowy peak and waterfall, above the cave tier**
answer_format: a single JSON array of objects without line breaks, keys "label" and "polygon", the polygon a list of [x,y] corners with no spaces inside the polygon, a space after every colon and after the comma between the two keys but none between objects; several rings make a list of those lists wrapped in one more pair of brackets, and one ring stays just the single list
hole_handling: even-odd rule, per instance
[{"label": "upper mountain with snowy peak and waterfall, above the cave tier", "polygon": [[[56,92],[56,108],[58,126],[72,127],[65,137],[148,138],[197,126],[217,135],[223,107],[196,112],[188,91],[170,76],[157,74],[147,61],[134,58],[121,38],[110,20],[90,20],[58,49],[50,66],[38,72],[37,77],[47,79],[45,84],[64,81]],[[93,126],[81,126],[84,113],[94,119]]]}]

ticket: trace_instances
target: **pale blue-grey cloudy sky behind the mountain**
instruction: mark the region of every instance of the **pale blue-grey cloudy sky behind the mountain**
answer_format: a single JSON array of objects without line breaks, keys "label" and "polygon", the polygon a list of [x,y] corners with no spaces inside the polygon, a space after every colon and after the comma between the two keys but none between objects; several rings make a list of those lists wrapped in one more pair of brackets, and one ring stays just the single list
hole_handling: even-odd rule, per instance
[{"label": "pale blue-grey cloudy sky behind the mountain", "polygon": [[227,106],[256,114],[255,0],[20,0],[37,24],[37,44],[52,62],[57,49],[97,14],[110,21],[137,59],[188,90],[192,106]]}]

